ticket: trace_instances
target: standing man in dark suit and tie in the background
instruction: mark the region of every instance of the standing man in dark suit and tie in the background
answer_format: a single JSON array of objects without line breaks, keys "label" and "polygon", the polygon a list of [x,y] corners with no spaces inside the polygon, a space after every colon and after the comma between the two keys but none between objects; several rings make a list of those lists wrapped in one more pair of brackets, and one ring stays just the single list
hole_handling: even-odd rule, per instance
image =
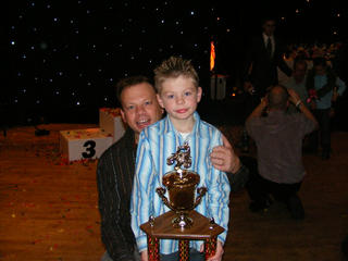
[{"label": "standing man in dark suit and tie in the background", "polygon": [[[266,89],[278,83],[277,67],[287,76],[291,75],[283,59],[284,48],[278,38],[274,36],[275,20],[264,18],[262,22],[262,34],[251,39],[247,50],[244,66],[244,89],[247,92],[246,117],[260,103],[260,99],[265,95]],[[248,151],[248,139],[245,137],[241,145],[245,152]]]}]

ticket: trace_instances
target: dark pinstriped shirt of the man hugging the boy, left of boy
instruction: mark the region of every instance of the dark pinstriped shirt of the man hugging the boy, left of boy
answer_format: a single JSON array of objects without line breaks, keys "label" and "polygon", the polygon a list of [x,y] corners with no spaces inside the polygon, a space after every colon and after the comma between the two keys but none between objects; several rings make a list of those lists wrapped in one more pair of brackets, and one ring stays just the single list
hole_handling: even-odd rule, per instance
[{"label": "dark pinstriped shirt of the man hugging the boy, left of boy", "polygon": [[130,227],[130,192],[135,173],[134,132],[107,149],[97,166],[101,239],[112,260],[135,261],[135,238]]}]

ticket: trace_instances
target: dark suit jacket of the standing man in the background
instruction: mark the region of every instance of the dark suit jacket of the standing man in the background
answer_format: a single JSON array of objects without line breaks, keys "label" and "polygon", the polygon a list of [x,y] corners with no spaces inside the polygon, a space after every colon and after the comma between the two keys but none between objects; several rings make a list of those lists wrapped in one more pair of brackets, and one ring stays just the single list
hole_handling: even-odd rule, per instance
[{"label": "dark suit jacket of the standing man in the background", "polygon": [[270,57],[266,51],[262,35],[251,39],[250,47],[246,54],[244,79],[250,80],[256,91],[260,95],[263,96],[268,87],[277,84],[277,66],[286,75],[291,75],[293,71],[284,61],[283,53],[284,48],[276,37],[274,37],[274,51],[272,57]]}]

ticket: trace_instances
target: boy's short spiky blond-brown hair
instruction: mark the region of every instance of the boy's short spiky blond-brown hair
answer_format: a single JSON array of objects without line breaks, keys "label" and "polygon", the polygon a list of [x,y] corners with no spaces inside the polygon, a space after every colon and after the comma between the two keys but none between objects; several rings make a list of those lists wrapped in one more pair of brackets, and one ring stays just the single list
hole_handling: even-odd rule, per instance
[{"label": "boy's short spiky blond-brown hair", "polygon": [[199,86],[199,77],[190,60],[171,57],[163,61],[153,72],[154,87],[158,92],[161,92],[162,84],[165,79],[177,78],[178,76],[191,78],[195,87],[198,88]]}]

